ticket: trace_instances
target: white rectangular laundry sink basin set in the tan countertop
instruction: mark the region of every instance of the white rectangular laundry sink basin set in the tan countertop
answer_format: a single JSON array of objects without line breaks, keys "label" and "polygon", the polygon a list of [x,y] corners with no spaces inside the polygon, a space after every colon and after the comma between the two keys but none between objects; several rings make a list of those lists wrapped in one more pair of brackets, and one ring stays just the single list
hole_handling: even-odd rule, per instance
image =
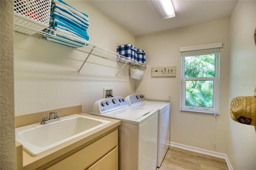
[{"label": "white rectangular laundry sink basin set in the tan countertop", "polygon": [[16,140],[23,145],[24,150],[32,156],[36,156],[54,146],[86,134],[108,123],[110,121],[74,114],[60,117],[60,121],[45,125],[35,123],[15,128],[15,136]]}]

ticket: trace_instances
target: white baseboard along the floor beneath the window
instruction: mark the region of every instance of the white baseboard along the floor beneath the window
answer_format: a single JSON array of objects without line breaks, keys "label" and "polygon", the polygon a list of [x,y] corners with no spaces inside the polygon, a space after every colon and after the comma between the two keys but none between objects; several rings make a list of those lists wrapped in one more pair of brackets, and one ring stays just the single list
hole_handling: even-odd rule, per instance
[{"label": "white baseboard along the floor beneath the window", "polygon": [[193,147],[193,146],[188,146],[188,145],[179,144],[179,143],[175,143],[175,142],[170,142],[170,146],[174,146],[174,147],[177,147],[177,148],[182,148],[182,149],[190,150],[190,151],[193,151],[193,152],[198,152],[198,153],[201,153],[201,154],[206,154],[206,155],[210,155],[210,156],[225,159],[226,163],[228,165],[228,169],[233,170],[233,167],[232,167],[232,165],[231,165],[231,163],[228,159],[228,156],[226,154],[222,154],[220,152],[214,152],[214,151],[211,151],[211,150],[196,148],[196,147]]}]

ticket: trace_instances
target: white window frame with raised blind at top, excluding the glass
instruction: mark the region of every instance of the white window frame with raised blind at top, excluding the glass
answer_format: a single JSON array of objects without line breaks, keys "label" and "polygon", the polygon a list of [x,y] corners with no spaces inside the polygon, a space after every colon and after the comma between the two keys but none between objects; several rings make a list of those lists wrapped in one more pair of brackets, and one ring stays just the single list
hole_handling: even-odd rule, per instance
[{"label": "white window frame with raised blind at top, excluding the glass", "polygon": [[[212,43],[206,45],[196,45],[190,47],[180,47],[182,56],[181,65],[181,98],[180,98],[180,110],[181,111],[193,111],[202,113],[218,114],[219,104],[219,61],[220,61],[220,47],[222,43]],[[204,55],[215,53],[215,77],[192,77],[185,78],[185,57]],[[193,107],[186,106],[186,81],[187,80],[213,80],[213,107]]]}]

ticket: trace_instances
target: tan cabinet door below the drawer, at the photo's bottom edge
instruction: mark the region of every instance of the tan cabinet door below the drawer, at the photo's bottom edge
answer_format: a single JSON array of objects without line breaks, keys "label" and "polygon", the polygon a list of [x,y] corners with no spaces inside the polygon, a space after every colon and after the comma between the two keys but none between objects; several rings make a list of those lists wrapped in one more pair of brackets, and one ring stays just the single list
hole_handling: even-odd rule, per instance
[{"label": "tan cabinet door below the drawer, at the photo's bottom edge", "polygon": [[87,170],[118,170],[118,147],[114,148]]}]

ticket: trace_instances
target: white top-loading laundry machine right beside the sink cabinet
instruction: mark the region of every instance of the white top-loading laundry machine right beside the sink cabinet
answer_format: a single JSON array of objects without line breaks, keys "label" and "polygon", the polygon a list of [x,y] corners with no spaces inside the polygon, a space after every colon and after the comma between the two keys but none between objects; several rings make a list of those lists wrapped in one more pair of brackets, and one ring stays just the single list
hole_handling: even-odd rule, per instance
[{"label": "white top-loading laundry machine right beside the sink cabinet", "polygon": [[124,97],[110,97],[96,101],[90,114],[121,121],[120,170],[156,170],[158,109],[131,107]]}]

